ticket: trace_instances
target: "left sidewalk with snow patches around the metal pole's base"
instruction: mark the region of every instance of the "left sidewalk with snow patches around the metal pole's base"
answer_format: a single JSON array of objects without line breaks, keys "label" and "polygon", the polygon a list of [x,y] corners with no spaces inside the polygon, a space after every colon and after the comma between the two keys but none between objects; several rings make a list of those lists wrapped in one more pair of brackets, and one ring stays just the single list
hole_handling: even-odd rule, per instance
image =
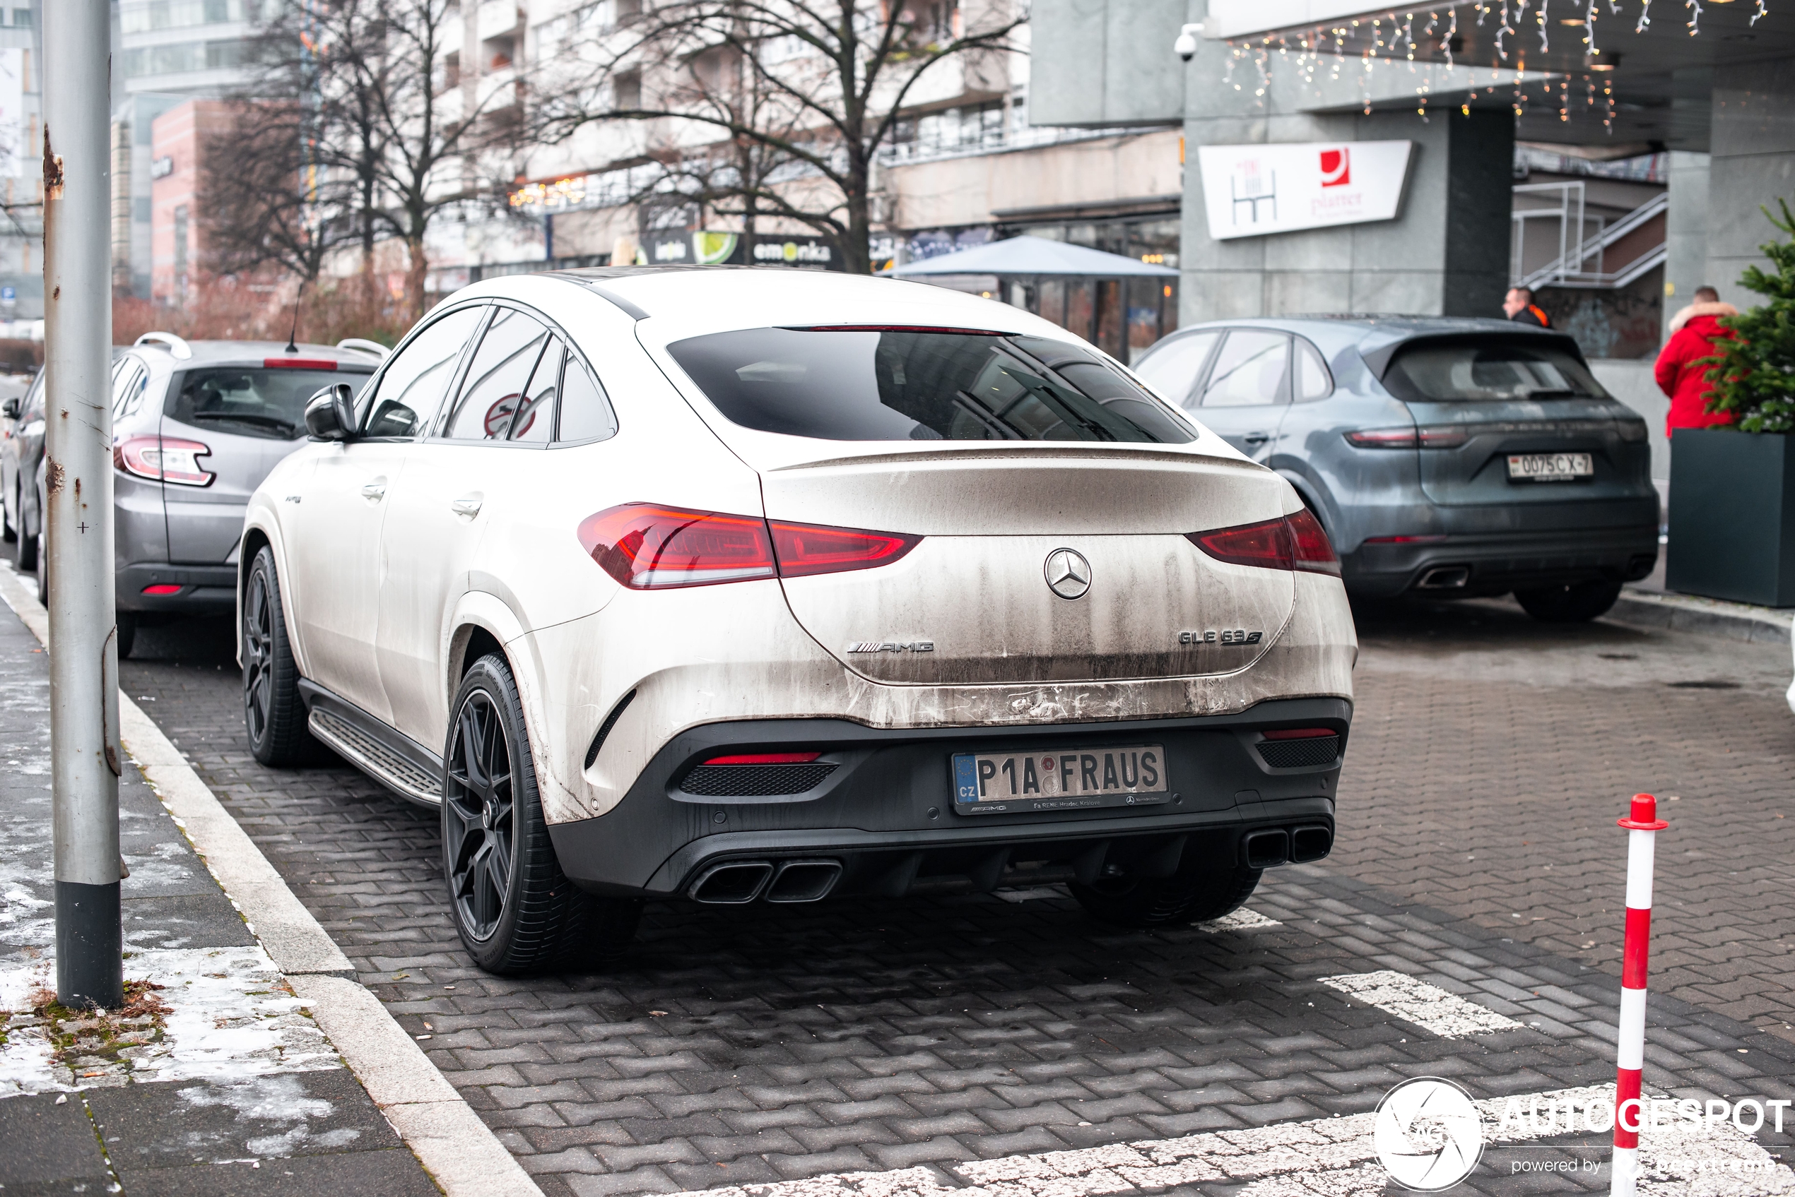
[{"label": "left sidewalk with snow patches around the metal pole's base", "polygon": [[0,741],[0,1192],[436,1193],[136,768],[131,1003],[48,1005],[48,659],[5,608]]}]

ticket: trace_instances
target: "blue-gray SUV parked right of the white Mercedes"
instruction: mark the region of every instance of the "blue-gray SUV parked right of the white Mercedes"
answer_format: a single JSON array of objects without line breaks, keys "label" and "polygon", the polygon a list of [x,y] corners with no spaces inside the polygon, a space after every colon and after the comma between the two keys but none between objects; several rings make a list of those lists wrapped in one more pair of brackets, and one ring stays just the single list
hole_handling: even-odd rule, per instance
[{"label": "blue-gray SUV parked right of the white Mercedes", "polygon": [[1646,424],[1563,334],[1226,319],[1181,328],[1134,370],[1296,486],[1353,594],[1513,592],[1535,619],[1581,621],[1657,564]]}]

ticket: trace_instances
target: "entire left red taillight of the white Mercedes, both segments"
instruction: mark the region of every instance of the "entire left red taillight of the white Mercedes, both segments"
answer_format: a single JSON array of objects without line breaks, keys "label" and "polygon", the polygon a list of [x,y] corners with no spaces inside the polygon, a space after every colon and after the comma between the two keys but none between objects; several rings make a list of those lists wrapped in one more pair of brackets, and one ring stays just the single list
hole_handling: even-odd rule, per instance
[{"label": "entire left red taillight of the white Mercedes, both segments", "polygon": [[632,590],[872,569],[896,562],[919,540],[652,502],[625,502],[580,524],[585,551]]}]

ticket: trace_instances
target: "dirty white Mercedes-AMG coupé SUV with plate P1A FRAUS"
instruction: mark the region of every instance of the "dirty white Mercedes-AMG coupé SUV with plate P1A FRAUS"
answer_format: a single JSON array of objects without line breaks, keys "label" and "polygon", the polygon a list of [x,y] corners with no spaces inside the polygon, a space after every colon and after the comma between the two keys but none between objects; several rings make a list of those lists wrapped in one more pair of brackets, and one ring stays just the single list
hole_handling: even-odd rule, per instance
[{"label": "dirty white Mercedes-AMG coup\u00e9 SUV with plate P1A FRAUS", "polygon": [[433,310],[250,502],[255,756],[442,808],[461,940],[643,899],[1066,883],[1104,921],[1319,860],[1357,641],[1278,474],[1025,310],[729,267]]}]

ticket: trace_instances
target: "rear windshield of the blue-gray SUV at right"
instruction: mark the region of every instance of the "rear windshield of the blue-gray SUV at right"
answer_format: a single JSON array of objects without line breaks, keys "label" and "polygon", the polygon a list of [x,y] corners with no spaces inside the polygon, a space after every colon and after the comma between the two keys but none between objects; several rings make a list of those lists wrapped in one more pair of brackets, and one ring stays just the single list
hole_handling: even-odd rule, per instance
[{"label": "rear windshield of the blue-gray SUV at right", "polygon": [[1578,355],[1549,341],[1423,341],[1397,354],[1384,386],[1411,400],[1608,398]]}]

